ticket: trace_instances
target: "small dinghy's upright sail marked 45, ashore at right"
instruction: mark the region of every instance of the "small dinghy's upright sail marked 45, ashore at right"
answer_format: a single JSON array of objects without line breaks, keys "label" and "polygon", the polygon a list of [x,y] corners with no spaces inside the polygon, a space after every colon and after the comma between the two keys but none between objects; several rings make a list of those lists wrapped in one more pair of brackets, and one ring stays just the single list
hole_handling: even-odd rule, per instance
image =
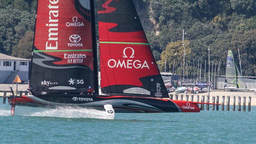
[{"label": "small dinghy's upright sail marked 45, ashore at right", "polygon": [[227,56],[225,82],[229,84],[235,84],[235,86],[237,87],[236,67],[235,67],[233,53],[230,50],[228,51],[228,56]]}]

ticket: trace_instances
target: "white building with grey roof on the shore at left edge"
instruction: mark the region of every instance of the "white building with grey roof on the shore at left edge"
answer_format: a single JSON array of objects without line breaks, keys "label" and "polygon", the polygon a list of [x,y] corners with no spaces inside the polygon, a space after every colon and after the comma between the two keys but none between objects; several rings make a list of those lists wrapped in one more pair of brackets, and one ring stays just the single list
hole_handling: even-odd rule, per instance
[{"label": "white building with grey roof on the shore at left edge", "polygon": [[17,75],[22,82],[28,82],[30,60],[0,53],[0,84],[11,84]]}]

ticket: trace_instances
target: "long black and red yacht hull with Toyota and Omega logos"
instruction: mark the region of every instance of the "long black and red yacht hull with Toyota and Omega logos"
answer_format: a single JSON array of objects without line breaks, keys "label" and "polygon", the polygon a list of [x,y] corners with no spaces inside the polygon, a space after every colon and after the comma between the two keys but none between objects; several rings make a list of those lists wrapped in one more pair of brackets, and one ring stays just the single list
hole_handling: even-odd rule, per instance
[{"label": "long black and red yacht hull with Toyota and Omega logos", "polygon": [[[73,94],[28,95],[18,97],[11,96],[8,101],[10,105],[40,108],[69,106],[104,109],[104,105],[111,104],[116,113],[200,112],[197,104],[188,101],[131,96]],[[188,106],[190,108],[187,108]]]}]

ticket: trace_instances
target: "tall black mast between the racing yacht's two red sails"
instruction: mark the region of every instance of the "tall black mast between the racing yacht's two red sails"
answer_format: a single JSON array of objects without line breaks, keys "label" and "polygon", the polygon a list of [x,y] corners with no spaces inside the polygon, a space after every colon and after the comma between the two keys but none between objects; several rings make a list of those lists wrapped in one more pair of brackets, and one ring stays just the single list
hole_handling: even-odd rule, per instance
[{"label": "tall black mast between the racing yacht's two red sails", "polygon": [[98,74],[98,53],[96,40],[96,19],[95,19],[95,3],[91,1],[91,20],[92,20],[92,55],[94,68],[94,91],[99,94],[99,74]]}]

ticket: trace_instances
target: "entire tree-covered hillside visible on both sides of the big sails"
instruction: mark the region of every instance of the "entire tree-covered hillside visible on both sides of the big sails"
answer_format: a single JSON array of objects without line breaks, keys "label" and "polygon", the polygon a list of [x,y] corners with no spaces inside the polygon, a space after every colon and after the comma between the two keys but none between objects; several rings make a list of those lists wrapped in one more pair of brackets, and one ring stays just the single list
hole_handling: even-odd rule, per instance
[{"label": "entire tree-covered hillside visible on both sides of the big sails", "polygon": [[[136,1],[137,11],[142,14],[140,20],[152,22],[144,27],[149,30],[145,32],[157,64],[160,61],[161,71],[164,71],[166,60],[166,71],[172,72],[175,61],[174,73],[182,75],[184,46],[181,41],[184,29],[187,33],[184,36],[187,54],[184,74],[187,75],[188,67],[188,77],[193,76],[194,63],[195,69],[200,69],[202,63],[203,76],[204,62],[207,61],[208,73],[208,46],[210,61],[214,65],[216,62],[217,67],[220,63],[220,75],[225,75],[228,50],[233,51],[235,62],[239,65],[237,47],[243,76],[256,75],[255,0],[133,1]],[[0,0],[0,3],[0,52],[29,58],[30,52],[25,51],[31,50],[37,0]]]}]

